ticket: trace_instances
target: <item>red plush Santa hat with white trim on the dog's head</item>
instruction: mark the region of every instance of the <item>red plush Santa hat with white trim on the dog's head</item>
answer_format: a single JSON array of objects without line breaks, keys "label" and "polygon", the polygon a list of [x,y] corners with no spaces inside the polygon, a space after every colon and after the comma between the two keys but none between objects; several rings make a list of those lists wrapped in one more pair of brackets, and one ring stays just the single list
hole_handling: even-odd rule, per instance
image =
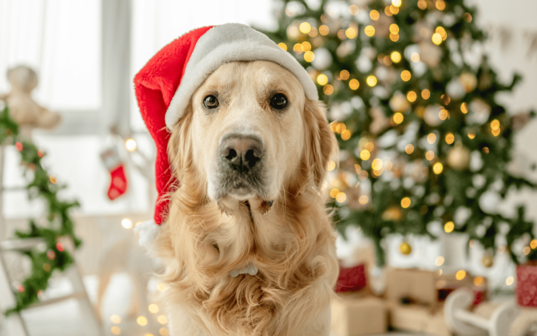
[{"label": "red plush Santa hat with white trim on the dog's head", "polygon": [[134,77],[138,106],[157,148],[155,224],[165,220],[169,201],[163,196],[178,183],[172,178],[166,149],[169,131],[183,116],[190,97],[224,63],[258,60],[286,68],[302,84],[307,98],[318,99],[315,83],[290,53],[265,34],[236,23],[184,34],[162,48]]}]

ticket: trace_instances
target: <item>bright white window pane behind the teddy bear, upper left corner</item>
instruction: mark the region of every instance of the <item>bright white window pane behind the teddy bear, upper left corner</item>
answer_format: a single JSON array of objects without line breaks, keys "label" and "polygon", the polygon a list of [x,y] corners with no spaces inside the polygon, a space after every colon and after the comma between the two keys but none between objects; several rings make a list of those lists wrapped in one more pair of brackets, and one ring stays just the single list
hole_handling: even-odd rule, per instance
[{"label": "bright white window pane behind the teddy bear, upper left corner", "polygon": [[17,65],[39,75],[34,98],[53,110],[96,110],[100,97],[100,1],[0,0],[0,92]]}]

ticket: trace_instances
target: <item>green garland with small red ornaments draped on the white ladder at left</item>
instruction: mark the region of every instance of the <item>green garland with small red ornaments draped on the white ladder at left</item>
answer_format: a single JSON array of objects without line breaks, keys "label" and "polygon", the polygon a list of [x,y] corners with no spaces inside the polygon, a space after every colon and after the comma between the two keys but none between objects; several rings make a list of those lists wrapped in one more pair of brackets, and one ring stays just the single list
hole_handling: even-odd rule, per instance
[{"label": "green garland with small red ornaments draped on the white ladder at left", "polygon": [[76,248],[81,245],[81,240],[75,235],[75,223],[69,215],[70,209],[79,204],[76,201],[63,202],[57,198],[58,192],[65,186],[56,184],[55,178],[41,166],[45,153],[31,141],[19,137],[18,125],[10,117],[7,106],[0,112],[0,144],[12,144],[20,152],[23,165],[33,172],[33,181],[26,185],[29,197],[41,197],[48,205],[47,227],[37,226],[30,220],[30,230],[15,233],[18,238],[41,238],[46,247],[42,248],[40,244],[41,248],[35,247],[22,252],[32,261],[32,270],[31,275],[13,290],[17,305],[6,311],[6,314],[10,314],[20,312],[38,302],[38,294],[48,287],[48,280],[54,270],[63,271],[74,262],[59,238],[71,238]]}]

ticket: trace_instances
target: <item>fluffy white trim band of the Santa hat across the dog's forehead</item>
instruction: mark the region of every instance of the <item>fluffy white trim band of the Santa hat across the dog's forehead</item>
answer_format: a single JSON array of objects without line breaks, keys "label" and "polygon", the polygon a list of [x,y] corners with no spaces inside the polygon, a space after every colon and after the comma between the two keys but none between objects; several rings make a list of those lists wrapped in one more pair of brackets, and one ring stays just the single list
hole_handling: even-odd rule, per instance
[{"label": "fluffy white trim band of the Santa hat across the dog's forehead", "polygon": [[319,99],[315,83],[291,54],[281,49],[267,35],[249,26],[228,23],[212,27],[198,39],[183,78],[166,111],[166,126],[170,130],[173,128],[183,116],[190,97],[214,70],[224,63],[235,61],[277,63],[295,75],[307,98]]}]

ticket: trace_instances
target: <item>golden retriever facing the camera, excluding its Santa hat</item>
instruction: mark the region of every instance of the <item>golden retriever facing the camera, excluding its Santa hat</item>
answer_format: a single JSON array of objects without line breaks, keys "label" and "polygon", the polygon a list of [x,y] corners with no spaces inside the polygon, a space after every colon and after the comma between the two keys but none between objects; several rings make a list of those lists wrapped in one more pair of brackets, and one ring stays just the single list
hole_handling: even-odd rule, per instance
[{"label": "golden retriever facing the camera, excluding its Santa hat", "polygon": [[172,336],[329,335],[339,268],[321,185],[336,152],[324,105],[276,63],[226,63],[195,91],[155,244]]}]

